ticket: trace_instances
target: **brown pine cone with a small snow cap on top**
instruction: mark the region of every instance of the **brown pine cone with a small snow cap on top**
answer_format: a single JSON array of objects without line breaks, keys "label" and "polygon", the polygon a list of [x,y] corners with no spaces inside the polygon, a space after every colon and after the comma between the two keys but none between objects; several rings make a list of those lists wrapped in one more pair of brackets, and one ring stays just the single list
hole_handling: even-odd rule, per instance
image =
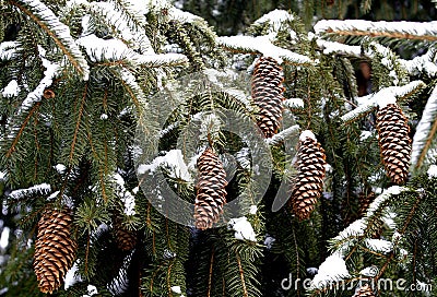
[{"label": "brown pine cone with a small snow cap on top", "polygon": [[292,190],[291,203],[299,219],[306,219],[314,211],[323,189],[326,155],[310,131],[300,135],[297,153],[298,176]]}]

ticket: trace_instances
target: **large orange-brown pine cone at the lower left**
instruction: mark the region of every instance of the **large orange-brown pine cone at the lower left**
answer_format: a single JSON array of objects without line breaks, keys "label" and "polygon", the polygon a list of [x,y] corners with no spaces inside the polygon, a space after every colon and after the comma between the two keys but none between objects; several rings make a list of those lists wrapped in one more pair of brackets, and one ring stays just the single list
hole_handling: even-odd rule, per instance
[{"label": "large orange-brown pine cone at the lower left", "polygon": [[72,266],[76,243],[71,239],[69,210],[48,210],[38,222],[35,241],[34,271],[43,293],[52,293]]}]

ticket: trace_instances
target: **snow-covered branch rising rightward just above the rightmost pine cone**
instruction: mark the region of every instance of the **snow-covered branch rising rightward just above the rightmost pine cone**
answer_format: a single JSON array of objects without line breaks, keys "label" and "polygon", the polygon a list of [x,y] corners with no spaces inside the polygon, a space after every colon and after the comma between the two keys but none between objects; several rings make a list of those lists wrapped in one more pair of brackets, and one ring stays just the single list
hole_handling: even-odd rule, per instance
[{"label": "snow-covered branch rising rightward just above the rightmost pine cone", "polygon": [[393,100],[395,98],[403,98],[410,96],[412,93],[417,92],[424,87],[425,83],[422,81],[413,81],[402,86],[389,86],[385,87],[377,93],[358,97],[358,107],[354,110],[343,115],[341,119],[343,121],[353,121],[375,109],[378,105],[382,106],[387,100]]}]

